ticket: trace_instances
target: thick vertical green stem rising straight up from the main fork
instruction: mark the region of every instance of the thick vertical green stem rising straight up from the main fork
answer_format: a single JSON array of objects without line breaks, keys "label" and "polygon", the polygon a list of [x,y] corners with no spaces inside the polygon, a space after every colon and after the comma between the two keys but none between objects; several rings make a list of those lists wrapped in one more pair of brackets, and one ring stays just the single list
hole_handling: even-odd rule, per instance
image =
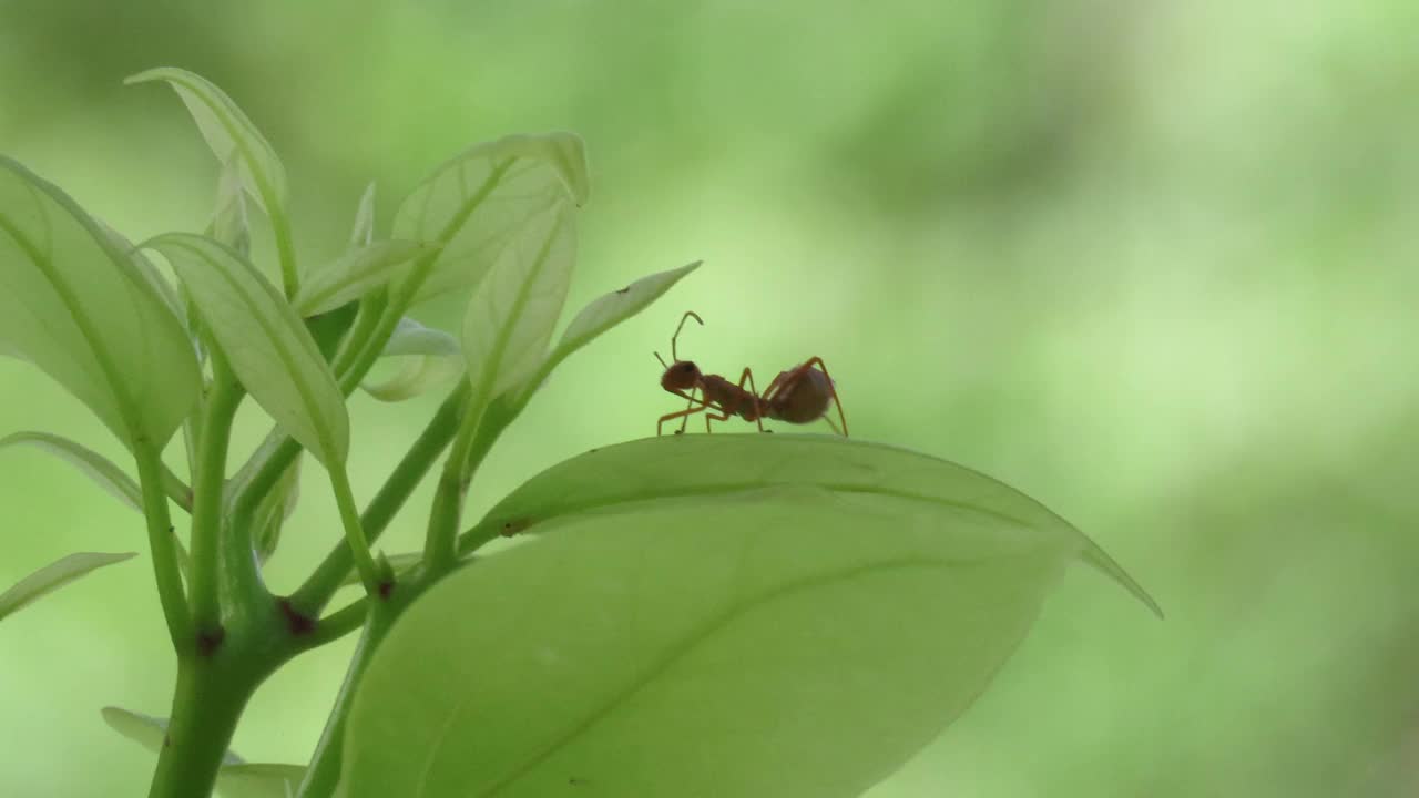
[{"label": "thick vertical green stem rising straight up from the main fork", "polygon": [[231,422],[241,405],[243,390],[226,365],[211,352],[211,396],[203,406],[201,433],[197,437],[197,477],[193,487],[189,601],[192,621],[199,635],[221,626],[217,601],[219,547],[221,538],[221,486],[227,471],[227,447]]}]

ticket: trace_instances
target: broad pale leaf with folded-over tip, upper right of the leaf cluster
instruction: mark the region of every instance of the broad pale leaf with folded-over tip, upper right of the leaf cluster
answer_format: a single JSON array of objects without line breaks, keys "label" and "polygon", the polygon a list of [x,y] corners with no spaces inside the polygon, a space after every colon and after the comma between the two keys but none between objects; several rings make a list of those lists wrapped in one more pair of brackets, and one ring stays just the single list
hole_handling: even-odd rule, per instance
[{"label": "broad pale leaf with folded-over tip, upper right of the leaf cluster", "polygon": [[392,237],[443,244],[404,278],[410,301],[478,285],[549,195],[586,202],[586,152],[572,133],[507,136],[440,166],[394,214]]}]

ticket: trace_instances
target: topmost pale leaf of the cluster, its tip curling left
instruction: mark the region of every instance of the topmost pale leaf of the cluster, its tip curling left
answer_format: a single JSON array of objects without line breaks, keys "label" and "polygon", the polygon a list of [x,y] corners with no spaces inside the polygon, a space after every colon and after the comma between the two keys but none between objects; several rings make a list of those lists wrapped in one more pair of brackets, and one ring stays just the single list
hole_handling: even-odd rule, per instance
[{"label": "topmost pale leaf of the cluster, its tip curling left", "polygon": [[166,81],[182,98],[207,146],[226,163],[236,156],[241,185],[271,217],[285,216],[285,168],[251,119],[220,88],[200,75],[175,67],[148,70],[123,81],[126,85]]}]

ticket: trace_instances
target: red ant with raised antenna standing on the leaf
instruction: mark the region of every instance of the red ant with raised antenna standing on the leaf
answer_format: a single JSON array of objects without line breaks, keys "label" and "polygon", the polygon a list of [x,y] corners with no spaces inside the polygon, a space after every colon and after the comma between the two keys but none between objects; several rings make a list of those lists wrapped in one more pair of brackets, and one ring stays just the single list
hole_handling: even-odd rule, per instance
[{"label": "red ant with raised antenna standing on the leaf", "polygon": [[[678,413],[661,416],[660,423],[656,425],[656,434],[661,434],[666,422],[671,419],[684,419],[680,423],[680,429],[675,430],[675,434],[680,434],[685,432],[690,416],[704,410],[718,410],[718,415],[705,413],[705,432],[710,432],[710,422],[724,422],[729,416],[739,416],[746,422],[759,425],[759,432],[765,432],[762,419],[776,419],[792,425],[806,425],[823,419],[827,422],[827,426],[833,427],[833,432],[847,437],[847,419],[843,417],[843,403],[837,400],[837,390],[833,388],[833,379],[827,376],[827,366],[823,365],[823,358],[810,358],[807,362],[793,366],[789,371],[779,372],[779,376],[773,378],[773,382],[761,395],[753,386],[753,373],[748,368],[744,369],[744,373],[739,375],[739,383],[735,385],[717,373],[701,373],[700,366],[694,362],[680,359],[680,355],[675,352],[675,341],[680,338],[680,331],[685,328],[685,322],[691,318],[701,325],[704,324],[704,319],[694,311],[687,311],[680,318],[680,327],[675,328],[675,334],[670,338],[673,364],[666,365],[660,352],[656,352],[656,359],[660,361],[660,365],[666,366],[666,373],[660,378],[660,386],[675,396],[688,399],[690,406]],[[813,368],[815,365],[817,368]],[[748,390],[744,389],[745,382],[749,383]],[[698,399],[695,398],[695,389],[700,389]],[[837,405],[837,419],[843,422],[841,430],[837,429],[833,419],[827,417],[829,403]]]}]

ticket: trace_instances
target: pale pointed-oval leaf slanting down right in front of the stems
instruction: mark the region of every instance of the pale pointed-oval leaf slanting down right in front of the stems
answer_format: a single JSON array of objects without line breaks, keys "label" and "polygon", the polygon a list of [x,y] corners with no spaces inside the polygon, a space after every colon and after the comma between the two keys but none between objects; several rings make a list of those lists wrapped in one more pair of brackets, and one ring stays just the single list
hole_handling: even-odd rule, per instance
[{"label": "pale pointed-oval leaf slanting down right in front of the stems", "polygon": [[349,452],[345,398],[311,334],[250,261],[203,236],[145,244],[167,258],[231,371],[291,437],[326,466]]}]

